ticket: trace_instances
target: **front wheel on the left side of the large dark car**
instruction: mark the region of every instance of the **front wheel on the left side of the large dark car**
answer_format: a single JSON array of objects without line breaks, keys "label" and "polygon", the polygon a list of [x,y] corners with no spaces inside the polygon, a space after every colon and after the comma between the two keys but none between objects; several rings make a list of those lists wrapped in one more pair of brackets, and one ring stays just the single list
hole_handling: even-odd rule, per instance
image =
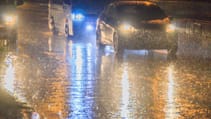
[{"label": "front wheel on the left side of the large dark car", "polygon": [[113,48],[114,48],[115,54],[119,55],[123,53],[123,48],[121,46],[119,35],[117,33],[114,33],[114,36],[113,36]]}]

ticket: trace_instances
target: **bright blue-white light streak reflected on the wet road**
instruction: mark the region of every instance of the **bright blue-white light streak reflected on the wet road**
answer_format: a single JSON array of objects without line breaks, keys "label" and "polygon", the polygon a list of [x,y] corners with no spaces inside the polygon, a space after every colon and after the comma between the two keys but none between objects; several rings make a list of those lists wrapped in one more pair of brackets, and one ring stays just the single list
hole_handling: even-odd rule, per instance
[{"label": "bright blue-white light streak reflected on the wet road", "polygon": [[[69,48],[68,48],[69,49]],[[86,119],[94,116],[95,97],[95,53],[92,44],[72,45],[70,66],[70,98],[68,100],[71,119]]]}]

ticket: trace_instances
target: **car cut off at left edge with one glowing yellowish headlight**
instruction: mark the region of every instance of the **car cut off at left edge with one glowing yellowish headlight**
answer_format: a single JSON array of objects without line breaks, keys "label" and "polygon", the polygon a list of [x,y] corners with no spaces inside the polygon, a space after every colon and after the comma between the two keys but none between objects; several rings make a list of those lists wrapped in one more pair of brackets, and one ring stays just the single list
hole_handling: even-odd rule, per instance
[{"label": "car cut off at left edge with one glowing yellowish headlight", "polygon": [[7,36],[11,40],[17,37],[18,16],[16,6],[22,5],[23,0],[0,1],[0,31],[1,36]]}]

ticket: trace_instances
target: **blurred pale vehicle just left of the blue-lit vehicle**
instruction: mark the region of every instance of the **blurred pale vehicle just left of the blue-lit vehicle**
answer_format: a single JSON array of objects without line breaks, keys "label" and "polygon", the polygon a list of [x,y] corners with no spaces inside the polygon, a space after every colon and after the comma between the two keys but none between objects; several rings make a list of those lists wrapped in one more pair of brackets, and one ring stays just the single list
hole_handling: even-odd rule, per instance
[{"label": "blurred pale vehicle just left of the blue-lit vehicle", "polygon": [[72,35],[70,0],[49,0],[48,25],[53,34]]}]

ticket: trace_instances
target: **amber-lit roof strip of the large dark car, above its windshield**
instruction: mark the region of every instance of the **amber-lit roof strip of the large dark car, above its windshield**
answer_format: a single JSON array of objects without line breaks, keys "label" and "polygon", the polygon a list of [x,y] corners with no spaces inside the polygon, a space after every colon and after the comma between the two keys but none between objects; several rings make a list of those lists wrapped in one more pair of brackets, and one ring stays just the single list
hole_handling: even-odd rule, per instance
[{"label": "amber-lit roof strip of the large dark car, above its windshield", "polygon": [[112,4],[114,5],[145,5],[145,6],[151,6],[156,5],[153,2],[150,1],[138,1],[138,0],[123,0],[123,1],[115,1]]}]

